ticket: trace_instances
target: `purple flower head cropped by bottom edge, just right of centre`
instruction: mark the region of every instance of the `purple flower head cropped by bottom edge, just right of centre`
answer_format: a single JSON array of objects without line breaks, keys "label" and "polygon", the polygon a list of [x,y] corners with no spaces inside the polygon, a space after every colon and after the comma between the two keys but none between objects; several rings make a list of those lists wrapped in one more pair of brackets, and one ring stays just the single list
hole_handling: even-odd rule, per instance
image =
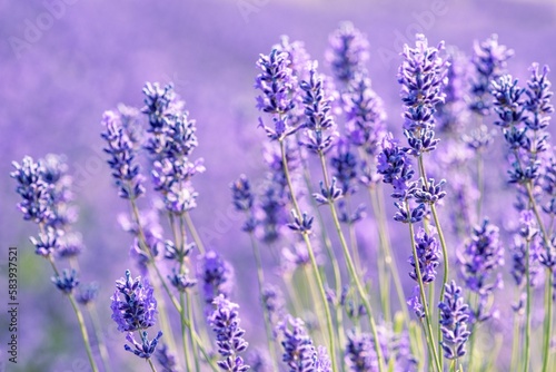
[{"label": "purple flower head cropped by bottom edge, just right of centre", "polygon": [[289,372],[314,372],[316,350],[312,340],[305,330],[305,323],[299,317],[288,319],[278,324],[282,334],[282,361],[288,365]]}]

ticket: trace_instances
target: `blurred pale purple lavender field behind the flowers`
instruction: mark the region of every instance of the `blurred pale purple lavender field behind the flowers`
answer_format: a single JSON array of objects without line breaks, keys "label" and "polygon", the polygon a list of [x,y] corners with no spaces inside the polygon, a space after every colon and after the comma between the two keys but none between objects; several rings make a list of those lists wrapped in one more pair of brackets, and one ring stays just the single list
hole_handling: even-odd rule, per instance
[{"label": "blurred pale purple lavender field behind the flowers", "polygon": [[[370,42],[367,67],[373,88],[385,100],[388,130],[395,134],[401,131],[396,79],[400,58],[396,56],[404,42],[413,43],[416,32],[423,31],[431,45],[445,40],[467,53],[474,40],[498,33],[500,43],[515,50],[508,70],[523,82],[534,61],[556,70],[553,0],[445,0],[433,18],[429,14],[437,9],[437,0],[60,1],[63,6],[57,10],[58,17],[32,33],[29,29],[40,26],[41,14],[56,1],[0,0],[2,275],[7,268],[4,248],[18,246],[20,254],[20,345],[13,371],[88,371],[70,309],[48,281],[50,267],[33,254],[28,237],[34,234],[34,227],[17,211],[19,198],[8,177],[12,160],[49,153],[64,154],[69,174],[76,178],[80,208],[76,229],[87,245],[80,258],[81,278],[101,284],[98,306],[109,349],[121,363],[117,370],[143,368],[123,352],[123,337],[110,321],[113,281],[135,266],[128,255],[130,238],[117,223],[117,215],[128,206],[117,197],[99,134],[105,110],[119,102],[142,106],[146,81],[173,81],[190,117],[197,120],[196,155],[205,158],[207,172],[195,179],[200,195],[192,216],[206,243],[235,266],[235,300],[241,306],[247,339],[257,345],[264,343],[264,334],[257,329],[260,314],[252,290],[256,273],[249,239],[240,232],[241,217],[230,206],[229,184],[241,173],[257,179],[266,170],[261,159],[266,136],[257,128],[259,112],[254,98],[259,53],[268,53],[281,35],[288,35],[291,40],[302,40],[311,58],[320,61],[320,70],[328,74],[324,62],[328,35],[340,21],[353,21]],[[549,130],[556,134],[554,124]],[[504,229],[512,192],[493,193],[505,188],[506,168],[498,156],[487,159],[493,161],[486,164],[490,176],[487,193],[494,199],[485,200],[486,211]],[[358,234],[365,242],[376,239],[364,229]],[[399,235],[403,242],[407,232]],[[398,254],[405,273],[408,253]],[[262,258],[270,261],[270,253],[262,252]],[[7,297],[3,283],[1,298]],[[7,356],[3,316],[0,330],[2,362]],[[500,370],[507,366],[508,353],[500,356],[505,359]]]}]

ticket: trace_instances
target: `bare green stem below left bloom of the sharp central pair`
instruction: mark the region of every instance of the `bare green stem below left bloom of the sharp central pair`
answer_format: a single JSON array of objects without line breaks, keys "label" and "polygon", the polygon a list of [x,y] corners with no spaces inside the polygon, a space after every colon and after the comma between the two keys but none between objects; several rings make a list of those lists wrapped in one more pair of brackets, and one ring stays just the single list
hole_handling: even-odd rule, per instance
[{"label": "bare green stem below left bloom of the sharp central pair", "polygon": [[[298,216],[301,216],[301,209],[299,208],[299,204],[297,203],[296,193],[294,190],[294,186],[291,185],[291,177],[290,177],[289,170],[288,170],[288,163],[286,159],[286,148],[284,145],[284,138],[280,138],[278,141],[280,143],[284,174],[285,174],[286,180],[288,183],[289,193],[291,195],[291,202],[294,204],[295,211],[298,214]],[[322,277],[321,277],[320,271],[318,268],[317,260],[315,258],[315,252],[312,251],[312,245],[311,245],[311,242],[309,239],[309,235],[307,232],[304,232],[301,234],[301,236],[305,241],[305,244],[307,245],[307,251],[309,253],[309,257],[311,261],[312,271],[315,273],[315,280],[317,281],[318,290],[320,293],[320,300],[322,302],[322,306],[325,307],[326,322],[327,322],[327,329],[328,329],[328,346],[329,346],[329,351],[330,351],[330,364],[332,366],[332,372],[336,372],[338,370],[337,363],[336,363],[336,342],[335,342],[335,336],[334,336],[332,316],[330,314],[330,309],[329,309],[328,302],[326,300],[325,285],[322,283]]]}]

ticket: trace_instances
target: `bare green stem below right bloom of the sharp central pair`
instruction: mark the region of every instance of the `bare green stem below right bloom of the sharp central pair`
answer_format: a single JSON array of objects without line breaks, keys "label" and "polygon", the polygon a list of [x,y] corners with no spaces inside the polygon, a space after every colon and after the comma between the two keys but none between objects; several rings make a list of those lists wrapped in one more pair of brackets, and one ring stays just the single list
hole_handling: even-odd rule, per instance
[{"label": "bare green stem below right bloom of the sharp central pair", "polygon": [[[322,167],[322,176],[325,178],[325,187],[328,189],[330,183],[329,183],[329,178],[328,178],[328,172],[326,169],[325,155],[321,151],[319,151],[319,158],[320,158],[320,165]],[[365,306],[365,310],[367,311],[367,315],[368,315],[369,323],[370,323],[370,331],[373,332],[373,336],[375,337],[375,340],[379,340],[377,325],[375,322],[375,317],[373,316],[373,307],[370,306],[368,294],[366,293],[363,284],[359,280],[359,276],[357,275],[357,272],[356,272],[356,268],[354,265],[354,261],[351,260],[351,255],[349,253],[349,248],[348,248],[348,245],[346,243],[346,238],[344,237],[344,233],[341,232],[341,226],[340,226],[340,222],[338,218],[338,213],[336,212],[336,206],[334,205],[334,203],[331,200],[328,204],[330,206],[330,213],[332,215],[332,221],[334,221],[334,225],[336,227],[336,232],[338,233],[338,237],[340,239],[341,249],[344,251],[344,257],[345,257],[347,266],[348,266],[349,275],[351,276],[351,280],[355,282],[357,292],[359,293],[360,300]],[[375,342],[375,351],[377,353],[378,370],[380,372],[383,372],[386,364],[385,364],[385,360],[383,356],[383,351],[381,351],[379,342]]]}]

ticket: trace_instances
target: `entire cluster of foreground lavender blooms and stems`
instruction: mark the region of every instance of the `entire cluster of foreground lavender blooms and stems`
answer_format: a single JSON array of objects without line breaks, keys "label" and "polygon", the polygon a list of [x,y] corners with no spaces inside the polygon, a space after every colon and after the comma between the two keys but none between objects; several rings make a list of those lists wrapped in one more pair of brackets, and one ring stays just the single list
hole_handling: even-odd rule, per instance
[{"label": "entire cluster of foreground lavender blooms and stems", "polygon": [[[512,347],[512,369],[550,371],[553,92],[548,67],[537,63],[520,88],[506,71],[513,55],[496,36],[467,58],[417,35],[397,74],[401,118],[388,119],[371,88],[369,42],[354,25],[330,35],[324,66],[301,41],[282,37],[254,72],[267,170],[261,180],[240,175],[230,184],[244,218],[238,229],[252,249],[239,270],[196,226],[205,195],[195,180],[206,170],[193,157],[196,120],[172,84],[147,82],[141,108],[120,105],[101,119],[107,164],[126,204],[119,221],[140,272],[127,270],[110,298],[78,278],[83,243],[63,157],[14,161],[18,208],[38,226],[31,243],[72,305],[91,370],[100,362],[110,371],[113,353],[97,322],[83,320],[97,304],[110,307],[126,334],[122,349],[151,371],[490,371],[509,368],[497,361],[499,350],[484,350],[503,340],[493,334],[512,313],[514,334],[498,345]],[[490,151],[495,139],[504,143],[502,156]],[[494,218],[485,200],[498,190],[485,161],[507,163],[505,193],[515,193],[513,209],[489,209]],[[240,312],[236,280],[245,285],[250,274],[256,282],[240,290],[259,306]],[[543,309],[534,313],[542,284]],[[503,301],[507,287],[518,294],[515,304]]]}]

